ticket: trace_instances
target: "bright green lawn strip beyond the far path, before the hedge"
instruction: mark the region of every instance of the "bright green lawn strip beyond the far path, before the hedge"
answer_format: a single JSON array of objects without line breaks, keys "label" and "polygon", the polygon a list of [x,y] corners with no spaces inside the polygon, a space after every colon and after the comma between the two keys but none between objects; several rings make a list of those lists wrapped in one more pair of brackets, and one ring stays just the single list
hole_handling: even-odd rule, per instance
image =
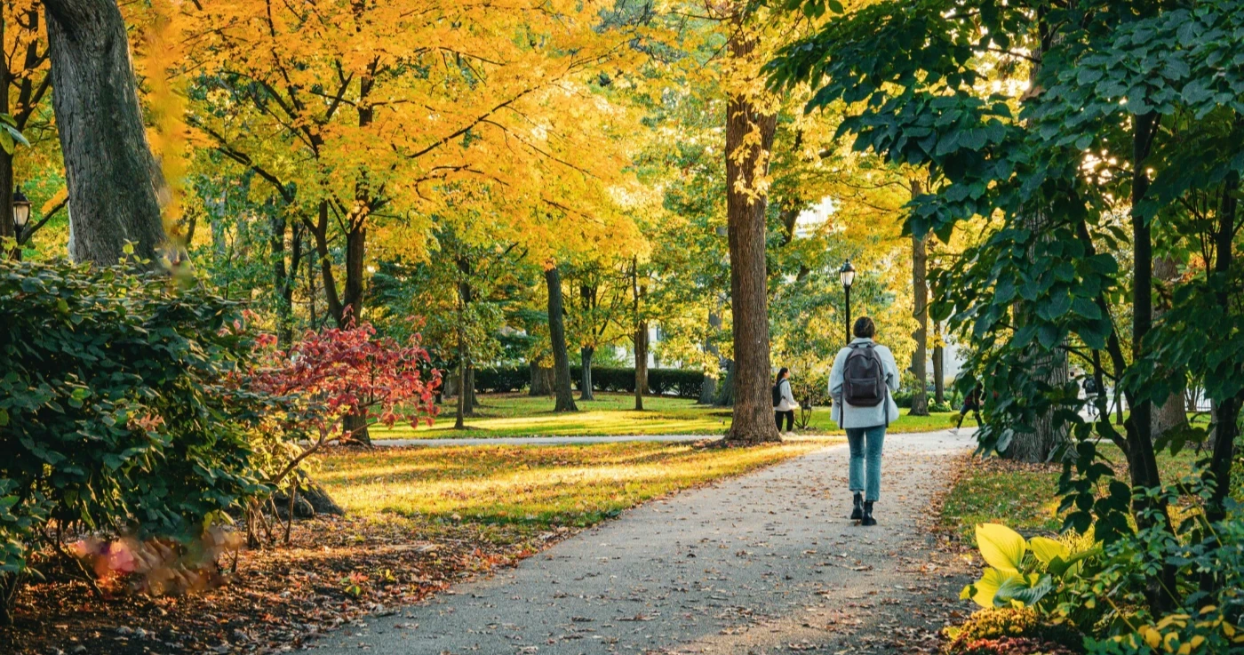
[{"label": "bright green lawn strip beyond the far path, before the hedge", "polygon": [[[552,400],[525,393],[480,396],[481,407],[466,418],[465,430],[454,430],[454,406],[440,408],[432,427],[398,425],[373,427],[372,438],[438,437],[544,437],[605,435],[722,435],[730,427],[728,407],[707,407],[693,400],[652,396],[643,398],[644,411],[637,412],[629,393],[597,393],[596,400],[576,401],[577,413],[554,413]],[[892,432],[929,432],[954,426],[955,412],[932,416],[903,416],[889,426]],[[799,412],[796,411],[796,420]],[[969,416],[964,426],[974,426]],[[809,435],[841,435],[830,420],[827,407],[812,412]]]}]

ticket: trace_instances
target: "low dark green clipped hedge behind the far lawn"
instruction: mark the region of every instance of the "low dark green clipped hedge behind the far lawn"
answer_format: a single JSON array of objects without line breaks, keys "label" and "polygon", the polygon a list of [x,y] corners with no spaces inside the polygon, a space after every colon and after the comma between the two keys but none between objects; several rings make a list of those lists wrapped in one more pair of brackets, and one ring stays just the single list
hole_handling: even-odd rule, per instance
[{"label": "low dark green clipped hedge behind the far lawn", "polygon": [[[582,366],[571,366],[570,377],[578,389]],[[698,398],[704,374],[683,369],[648,369],[648,393]],[[526,389],[531,382],[531,369],[503,366],[475,371],[476,393],[508,393]],[[634,393],[634,369],[592,366],[592,390]]]}]

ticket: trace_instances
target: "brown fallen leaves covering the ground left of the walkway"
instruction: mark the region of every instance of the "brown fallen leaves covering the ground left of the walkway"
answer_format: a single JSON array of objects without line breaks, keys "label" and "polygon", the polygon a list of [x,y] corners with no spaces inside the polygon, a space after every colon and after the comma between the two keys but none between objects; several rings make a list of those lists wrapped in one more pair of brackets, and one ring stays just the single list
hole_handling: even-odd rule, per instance
[{"label": "brown fallen leaves covering the ground left of the walkway", "polygon": [[[45,568],[22,594],[5,655],[266,654],[295,650],[322,630],[393,611],[453,582],[511,565],[570,530],[499,545],[479,527],[443,527],[429,540],[404,522],[320,517],[299,522],[294,545],[241,550],[226,584],[180,596],[104,589],[77,572]],[[221,559],[229,573],[233,555]]]}]

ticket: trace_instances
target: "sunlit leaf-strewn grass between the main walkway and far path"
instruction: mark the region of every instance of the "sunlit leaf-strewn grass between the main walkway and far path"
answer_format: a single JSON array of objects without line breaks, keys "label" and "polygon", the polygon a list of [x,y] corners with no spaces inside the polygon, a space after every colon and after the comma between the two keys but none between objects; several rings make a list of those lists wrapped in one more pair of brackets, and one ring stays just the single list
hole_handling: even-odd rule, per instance
[{"label": "sunlit leaf-strewn grass between the main walkway and far path", "polygon": [[322,459],[316,478],[355,516],[474,522],[522,533],[590,525],[649,498],[827,443],[811,438],[753,448],[632,442],[337,451]]}]

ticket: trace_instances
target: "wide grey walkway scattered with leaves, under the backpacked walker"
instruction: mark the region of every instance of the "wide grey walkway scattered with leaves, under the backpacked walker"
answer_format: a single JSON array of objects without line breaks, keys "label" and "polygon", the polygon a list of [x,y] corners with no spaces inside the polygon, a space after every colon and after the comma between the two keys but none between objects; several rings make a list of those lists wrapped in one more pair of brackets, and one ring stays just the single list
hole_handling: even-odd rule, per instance
[{"label": "wide grey walkway scattered with leaves, under the backpacked walker", "polygon": [[918,521],[950,458],[973,445],[970,431],[887,437],[875,528],[846,519],[846,447],[827,447],[647,503],[317,646],[333,655],[909,653],[911,626],[933,610],[919,593],[953,599],[963,584],[933,573]]}]

